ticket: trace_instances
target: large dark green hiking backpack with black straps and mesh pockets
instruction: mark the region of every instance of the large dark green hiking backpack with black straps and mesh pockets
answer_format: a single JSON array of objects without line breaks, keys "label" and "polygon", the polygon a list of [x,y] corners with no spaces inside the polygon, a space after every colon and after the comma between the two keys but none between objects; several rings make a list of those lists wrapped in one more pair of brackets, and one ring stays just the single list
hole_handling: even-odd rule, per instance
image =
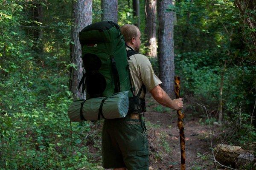
[{"label": "large dark green hiking backpack with black straps and mesh pockets", "polygon": [[[79,82],[79,91],[86,92],[86,99],[109,97],[122,91],[128,91],[128,113],[145,111],[145,100],[140,93],[135,95],[131,85],[128,54],[124,37],[119,25],[112,21],[90,24],[79,33],[82,50],[83,77]],[[136,54],[133,51],[131,54]],[[103,104],[102,100],[102,104]]]}]

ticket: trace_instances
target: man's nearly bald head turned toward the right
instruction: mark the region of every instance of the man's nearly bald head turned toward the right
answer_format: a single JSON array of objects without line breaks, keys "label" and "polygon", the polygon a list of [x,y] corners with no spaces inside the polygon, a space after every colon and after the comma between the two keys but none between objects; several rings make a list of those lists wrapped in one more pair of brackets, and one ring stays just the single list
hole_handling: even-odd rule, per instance
[{"label": "man's nearly bald head turned toward the right", "polygon": [[121,34],[125,38],[127,45],[134,48],[135,51],[140,50],[140,30],[137,26],[125,24],[120,28]]}]

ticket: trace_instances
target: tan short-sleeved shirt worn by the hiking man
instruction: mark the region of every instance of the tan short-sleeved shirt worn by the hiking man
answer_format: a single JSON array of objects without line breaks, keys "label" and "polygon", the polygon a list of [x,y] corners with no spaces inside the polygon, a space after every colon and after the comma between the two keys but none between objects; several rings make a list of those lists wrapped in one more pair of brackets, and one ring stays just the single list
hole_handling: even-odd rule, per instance
[{"label": "tan short-sleeved shirt worn by the hiking man", "polygon": [[[128,51],[131,49],[126,47],[126,50]],[[131,83],[135,88],[135,95],[139,93],[143,84],[148,91],[151,91],[154,87],[162,83],[154,74],[152,65],[146,56],[142,54],[134,54],[128,59],[128,64],[131,72]],[[143,91],[140,94],[140,97],[145,97]]]}]

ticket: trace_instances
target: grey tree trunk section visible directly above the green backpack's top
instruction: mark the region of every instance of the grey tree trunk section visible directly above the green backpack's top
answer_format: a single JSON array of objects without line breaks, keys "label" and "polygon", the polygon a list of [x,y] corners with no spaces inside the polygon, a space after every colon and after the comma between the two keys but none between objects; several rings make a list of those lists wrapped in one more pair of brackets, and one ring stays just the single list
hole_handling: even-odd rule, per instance
[{"label": "grey tree trunk section visible directly above the green backpack's top", "polygon": [[117,23],[117,0],[102,0],[102,21]]}]

